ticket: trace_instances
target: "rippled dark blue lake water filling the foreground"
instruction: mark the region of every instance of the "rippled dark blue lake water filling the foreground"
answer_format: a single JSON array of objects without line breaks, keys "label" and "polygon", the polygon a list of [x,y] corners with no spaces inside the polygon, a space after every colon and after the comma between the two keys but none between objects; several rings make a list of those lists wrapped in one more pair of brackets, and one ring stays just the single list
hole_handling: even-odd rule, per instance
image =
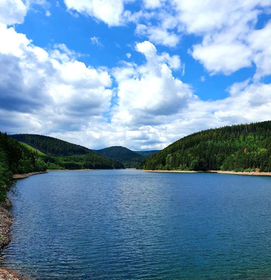
[{"label": "rippled dark blue lake water filling the foreground", "polygon": [[0,264],[32,279],[271,279],[271,177],[51,171],[18,180]]}]

